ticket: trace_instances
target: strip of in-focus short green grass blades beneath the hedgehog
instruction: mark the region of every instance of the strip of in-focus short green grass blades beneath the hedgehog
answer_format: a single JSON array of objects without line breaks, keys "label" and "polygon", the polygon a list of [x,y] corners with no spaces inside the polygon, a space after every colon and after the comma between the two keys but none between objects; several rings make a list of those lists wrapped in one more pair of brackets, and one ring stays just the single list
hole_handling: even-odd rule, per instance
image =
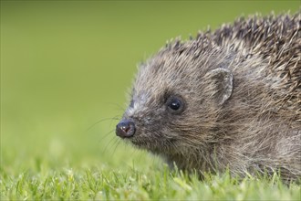
[{"label": "strip of in-focus short green grass blades beneath the hedgehog", "polygon": [[22,172],[1,177],[5,199],[109,199],[109,200],[300,200],[300,185],[283,185],[277,175],[270,179],[231,178],[229,174],[197,175],[171,172],[168,167],[146,171],[108,167],[41,172]]}]

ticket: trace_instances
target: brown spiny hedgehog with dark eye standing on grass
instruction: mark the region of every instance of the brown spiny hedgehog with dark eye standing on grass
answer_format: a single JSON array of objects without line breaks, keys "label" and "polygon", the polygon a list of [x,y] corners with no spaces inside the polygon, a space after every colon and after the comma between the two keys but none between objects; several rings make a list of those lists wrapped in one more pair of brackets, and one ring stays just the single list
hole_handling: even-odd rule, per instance
[{"label": "brown spiny hedgehog with dark eye standing on grass", "polygon": [[301,176],[301,14],[240,17],[140,64],[116,134],[184,171]]}]

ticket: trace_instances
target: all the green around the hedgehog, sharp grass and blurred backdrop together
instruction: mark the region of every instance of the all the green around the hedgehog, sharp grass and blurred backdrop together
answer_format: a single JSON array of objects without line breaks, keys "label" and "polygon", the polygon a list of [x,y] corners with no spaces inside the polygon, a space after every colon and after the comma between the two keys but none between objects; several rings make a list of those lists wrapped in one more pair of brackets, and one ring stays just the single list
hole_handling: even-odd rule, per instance
[{"label": "all the green around the hedgehog, sharp grass and blurred backdrop together", "polygon": [[1,200],[300,200],[300,185],[283,185],[277,176],[200,181],[170,171],[114,133],[136,64],[166,40],[237,16],[295,13],[299,6],[1,1]]}]

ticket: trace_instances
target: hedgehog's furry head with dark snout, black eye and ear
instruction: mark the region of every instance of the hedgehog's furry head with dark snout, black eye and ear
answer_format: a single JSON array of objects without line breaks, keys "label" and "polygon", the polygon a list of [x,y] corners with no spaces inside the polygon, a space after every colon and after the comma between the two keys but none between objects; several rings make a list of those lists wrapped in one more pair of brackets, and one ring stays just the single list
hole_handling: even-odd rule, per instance
[{"label": "hedgehog's furry head with dark snout, black eye and ear", "polygon": [[204,40],[162,48],[140,65],[117,135],[153,153],[213,143],[211,133],[233,91],[232,60]]}]

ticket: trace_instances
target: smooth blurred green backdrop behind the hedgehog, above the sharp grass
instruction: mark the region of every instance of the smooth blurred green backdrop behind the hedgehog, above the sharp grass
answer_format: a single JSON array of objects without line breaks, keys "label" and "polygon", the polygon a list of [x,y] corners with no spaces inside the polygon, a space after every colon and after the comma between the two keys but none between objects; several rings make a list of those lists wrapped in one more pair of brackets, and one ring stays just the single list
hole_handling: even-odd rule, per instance
[{"label": "smooth blurred green backdrop behind the hedgehog, above the sharp grass", "polygon": [[120,143],[114,132],[137,64],[172,37],[196,36],[242,15],[296,13],[299,6],[1,1],[1,168],[160,164]]}]

